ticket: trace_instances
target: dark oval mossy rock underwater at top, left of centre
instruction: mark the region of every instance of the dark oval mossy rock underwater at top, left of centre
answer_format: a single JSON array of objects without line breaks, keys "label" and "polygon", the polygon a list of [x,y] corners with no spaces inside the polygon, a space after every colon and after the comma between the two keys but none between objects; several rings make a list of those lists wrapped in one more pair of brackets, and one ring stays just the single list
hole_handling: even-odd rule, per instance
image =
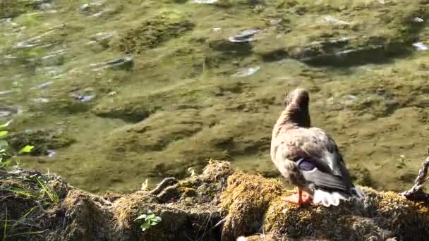
[{"label": "dark oval mossy rock underwater at top, left of centre", "polygon": [[138,27],[123,32],[119,39],[119,49],[126,54],[140,54],[145,49],[155,48],[169,39],[180,37],[193,30],[194,26],[185,13],[161,11]]}]

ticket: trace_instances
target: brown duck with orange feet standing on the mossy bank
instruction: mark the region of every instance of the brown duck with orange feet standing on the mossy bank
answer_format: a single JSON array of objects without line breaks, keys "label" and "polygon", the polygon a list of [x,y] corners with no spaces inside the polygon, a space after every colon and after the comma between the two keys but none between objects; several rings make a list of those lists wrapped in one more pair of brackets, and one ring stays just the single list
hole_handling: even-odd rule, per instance
[{"label": "brown duck with orange feet standing on the mossy bank", "polygon": [[343,156],[330,135],[311,126],[310,95],[297,87],[286,93],[284,109],[272,130],[270,156],[296,193],[284,202],[338,206],[341,200],[362,199]]}]

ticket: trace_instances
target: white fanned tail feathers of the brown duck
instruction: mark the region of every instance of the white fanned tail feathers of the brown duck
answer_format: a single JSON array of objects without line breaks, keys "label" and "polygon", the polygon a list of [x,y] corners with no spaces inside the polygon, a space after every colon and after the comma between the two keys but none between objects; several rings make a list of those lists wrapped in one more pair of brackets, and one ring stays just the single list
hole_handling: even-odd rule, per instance
[{"label": "white fanned tail feathers of the brown duck", "polygon": [[313,202],[315,204],[321,203],[324,206],[338,206],[340,200],[350,201],[351,199],[362,199],[365,197],[363,191],[358,187],[352,187],[350,193],[327,191],[327,190],[315,190],[313,194]]}]

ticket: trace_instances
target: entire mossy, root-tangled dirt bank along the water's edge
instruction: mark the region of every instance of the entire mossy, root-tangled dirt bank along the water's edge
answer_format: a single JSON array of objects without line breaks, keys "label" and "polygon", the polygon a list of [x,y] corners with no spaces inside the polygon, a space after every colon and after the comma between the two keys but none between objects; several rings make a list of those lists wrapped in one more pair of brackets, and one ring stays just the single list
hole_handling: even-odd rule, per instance
[{"label": "entire mossy, root-tangled dirt bank along the water's edge", "polygon": [[[361,201],[298,208],[275,179],[210,161],[203,173],[154,190],[90,194],[57,175],[0,171],[4,240],[425,240],[428,206],[363,187]],[[155,214],[145,231],[135,220]],[[6,230],[5,230],[6,228]],[[4,237],[6,235],[6,237]]]}]

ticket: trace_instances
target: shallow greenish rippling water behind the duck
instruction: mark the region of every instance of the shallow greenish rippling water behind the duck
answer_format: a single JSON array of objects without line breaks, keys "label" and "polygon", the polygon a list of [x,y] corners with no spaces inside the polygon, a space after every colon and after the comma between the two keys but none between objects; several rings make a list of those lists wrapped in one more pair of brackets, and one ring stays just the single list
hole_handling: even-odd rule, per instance
[{"label": "shallow greenish rippling water behind the duck", "polygon": [[[271,128],[299,85],[313,125],[350,166],[379,189],[409,187],[429,134],[429,51],[413,46],[429,42],[428,4],[232,2],[113,0],[83,11],[87,2],[57,0],[0,15],[11,18],[0,21],[0,108],[20,110],[0,121],[60,133],[21,165],[92,192],[189,175],[211,158],[276,176]],[[251,29],[253,41],[228,41]]]}]

